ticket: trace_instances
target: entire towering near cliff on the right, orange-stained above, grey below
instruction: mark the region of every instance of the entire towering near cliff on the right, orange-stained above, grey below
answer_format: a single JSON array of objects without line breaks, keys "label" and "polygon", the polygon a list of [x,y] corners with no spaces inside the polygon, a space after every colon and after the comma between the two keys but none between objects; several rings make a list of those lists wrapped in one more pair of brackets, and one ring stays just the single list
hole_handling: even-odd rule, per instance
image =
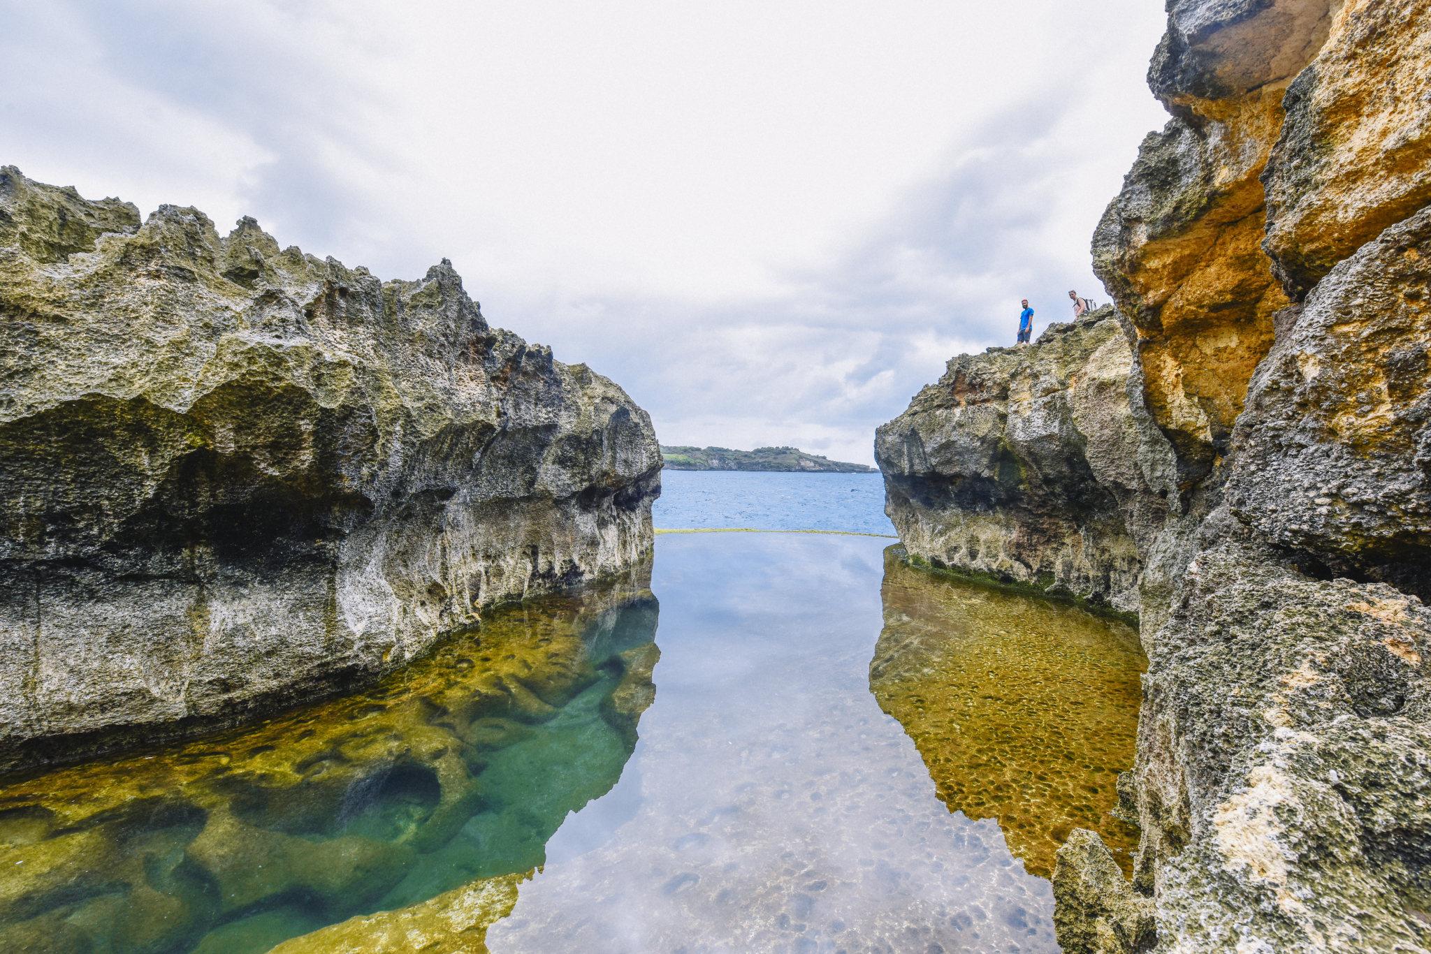
[{"label": "entire towering near cliff on the right, orange-stained above, grey below", "polygon": [[[1162,523],[1089,548],[1136,548],[1143,834],[1132,884],[1092,832],[1060,851],[1060,941],[1428,951],[1431,3],[1168,9],[1149,84],[1173,119],[1093,237],[1155,425],[1125,466],[1173,455]],[[1102,486],[1068,479],[1047,499]],[[1078,515],[1010,511],[1005,535]]]}]

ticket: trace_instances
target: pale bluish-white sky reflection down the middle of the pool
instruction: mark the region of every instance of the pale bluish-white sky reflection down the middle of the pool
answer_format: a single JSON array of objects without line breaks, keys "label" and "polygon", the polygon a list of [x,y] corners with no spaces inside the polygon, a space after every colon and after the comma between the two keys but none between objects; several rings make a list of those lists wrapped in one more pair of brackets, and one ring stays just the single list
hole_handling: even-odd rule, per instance
[{"label": "pale bluish-white sky reflection down the middle of the pool", "polygon": [[658,539],[660,697],[494,954],[1058,950],[1047,882],[939,802],[869,692],[883,545]]}]

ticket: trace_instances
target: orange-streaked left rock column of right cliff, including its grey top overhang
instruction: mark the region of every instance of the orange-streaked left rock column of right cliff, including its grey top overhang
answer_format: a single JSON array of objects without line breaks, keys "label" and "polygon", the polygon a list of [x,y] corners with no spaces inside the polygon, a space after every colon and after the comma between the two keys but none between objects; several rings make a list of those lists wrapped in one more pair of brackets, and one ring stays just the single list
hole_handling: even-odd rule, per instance
[{"label": "orange-streaked left rock column of right cliff, including its grey top overhang", "polygon": [[1252,369],[1288,305],[1261,250],[1259,176],[1282,97],[1332,29],[1328,0],[1181,0],[1148,82],[1173,119],[1093,235],[1093,270],[1138,329],[1148,406],[1185,492],[1226,453]]}]

